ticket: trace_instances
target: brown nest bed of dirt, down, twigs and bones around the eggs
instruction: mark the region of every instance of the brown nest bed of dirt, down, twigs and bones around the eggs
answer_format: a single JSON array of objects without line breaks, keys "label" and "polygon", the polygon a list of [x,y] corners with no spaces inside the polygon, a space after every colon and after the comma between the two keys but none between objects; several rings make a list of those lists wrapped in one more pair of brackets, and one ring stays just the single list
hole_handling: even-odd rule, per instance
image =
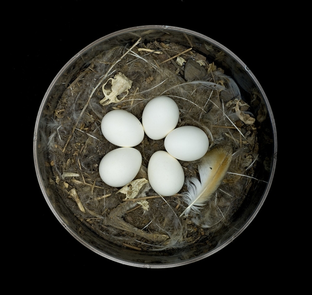
[{"label": "brown nest bed of dirt, down, twigs and bones around the eggs", "polygon": [[[127,87],[118,84],[118,77],[127,81]],[[101,133],[103,116],[123,109],[141,119],[146,104],[159,95],[177,103],[177,127],[199,127],[209,138],[209,150],[231,150],[230,164],[216,190],[206,196],[204,206],[187,214],[182,214],[188,206],[187,181],[179,193],[168,197],[158,195],[148,181],[149,159],[164,150],[164,140],[145,135],[134,147],[142,155],[142,166],[125,187],[105,184],[98,172],[103,156],[118,148]],[[213,248],[211,237],[231,223],[250,188],[262,181],[254,172],[261,157],[258,132],[266,116],[258,89],[241,91],[218,57],[161,40],[117,45],[100,52],[71,78],[53,108],[47,123],[46,165],[53,171],[49,182],[81,224],[113,244],[168,253],[198,244]],[[179,162],[186,180],[204,181],[199,174],[201,159]],[[262,158],[261,167],[263,163]],[[269,164],[264,167],[270,170]]]}]

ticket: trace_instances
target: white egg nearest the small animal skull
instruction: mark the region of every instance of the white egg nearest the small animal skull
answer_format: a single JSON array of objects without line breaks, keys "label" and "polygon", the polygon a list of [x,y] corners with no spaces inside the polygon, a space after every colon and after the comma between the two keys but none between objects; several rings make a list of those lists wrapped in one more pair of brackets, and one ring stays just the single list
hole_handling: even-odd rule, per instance
[{"label": "white egg nearest the small animal skull", "polygon": [[112,144],[123,147],[135,147],[144,138],[144,129],[133,114],[125,110],[108,112],[101,122],[104,137]]}]

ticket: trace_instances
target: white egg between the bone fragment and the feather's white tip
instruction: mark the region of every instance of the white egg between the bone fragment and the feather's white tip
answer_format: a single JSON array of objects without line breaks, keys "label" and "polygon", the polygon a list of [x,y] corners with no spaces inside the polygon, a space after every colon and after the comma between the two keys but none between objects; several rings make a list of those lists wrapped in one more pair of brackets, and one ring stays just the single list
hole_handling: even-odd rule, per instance
[{"label": "white egg between the bone fragment and the feather's white tip", "polygon": [[148,178],[156,193],[172,196],[183,187],[184,171],[176,158],[164,150],[159,150],[150,158]]}]

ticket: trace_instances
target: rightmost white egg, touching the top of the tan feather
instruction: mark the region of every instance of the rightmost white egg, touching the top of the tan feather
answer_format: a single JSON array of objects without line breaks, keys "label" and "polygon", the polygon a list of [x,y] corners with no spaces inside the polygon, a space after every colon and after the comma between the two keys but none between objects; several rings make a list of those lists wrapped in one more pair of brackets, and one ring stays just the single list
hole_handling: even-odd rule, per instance
[{"label": "rightmost white egg, touching the top of the tan feather", "polygon": [[182,126],[166,136],[164,145],[173,157],[183,161],[195,161],[207,152],[209,139],[198,127]]}]

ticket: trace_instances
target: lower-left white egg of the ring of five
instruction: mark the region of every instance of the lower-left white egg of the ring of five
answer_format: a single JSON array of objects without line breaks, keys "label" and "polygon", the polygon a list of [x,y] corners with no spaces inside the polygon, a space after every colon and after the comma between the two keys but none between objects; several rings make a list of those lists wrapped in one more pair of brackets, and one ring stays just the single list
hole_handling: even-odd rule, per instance
[{"label": "lower-left white egg of the ring of five", "polygon": [[108,152],[98,166],[102,180],[114,187],[134,179],[142,164],[141,153],[135,148],[116,148]]}]

